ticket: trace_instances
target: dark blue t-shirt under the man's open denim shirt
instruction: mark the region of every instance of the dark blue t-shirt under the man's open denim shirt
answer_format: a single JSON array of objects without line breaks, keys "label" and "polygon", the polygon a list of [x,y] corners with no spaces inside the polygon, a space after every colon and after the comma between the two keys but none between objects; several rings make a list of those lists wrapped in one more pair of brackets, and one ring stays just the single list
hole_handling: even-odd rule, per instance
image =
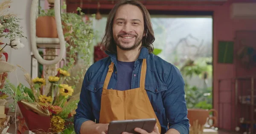
[{"label": "dark blue t-shirt under the man's open denim shirt", "polygon": [[134,70],[133,62],[117,61],[117,84],[116,90],[128,90],[131,89],[131,77]]}]

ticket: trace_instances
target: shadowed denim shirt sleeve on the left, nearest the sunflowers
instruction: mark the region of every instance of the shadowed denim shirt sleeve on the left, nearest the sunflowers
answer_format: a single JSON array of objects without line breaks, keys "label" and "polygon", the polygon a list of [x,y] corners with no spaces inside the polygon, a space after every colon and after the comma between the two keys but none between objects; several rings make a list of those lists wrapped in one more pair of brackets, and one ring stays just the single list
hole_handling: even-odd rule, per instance
[{"label": "shadowed denim shirt sleeve on the left, nearest the sunflowers", "polygon": [[84,81],[81,88],[80,100],[74,116],[74,129],[76,134],[80,134],[81,125],[87,120],[93,120],[93,112],[91,105],[90,91],[86,89],[88,86],[88,73],[84,76]]}]

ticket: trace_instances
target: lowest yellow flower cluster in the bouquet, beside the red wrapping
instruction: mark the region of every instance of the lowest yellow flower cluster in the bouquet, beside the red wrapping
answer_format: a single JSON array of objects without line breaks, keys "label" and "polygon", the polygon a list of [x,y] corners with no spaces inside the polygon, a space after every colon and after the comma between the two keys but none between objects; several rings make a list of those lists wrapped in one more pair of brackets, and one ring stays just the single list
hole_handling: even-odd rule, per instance
[{"label": "lowest yellow flower cluster in the bouquet, beside the red wrapping", "polygon": [[51,128],[54,132],[61,132],[64,129],[65,120],[59,116],[53,116],[51,119]]}]

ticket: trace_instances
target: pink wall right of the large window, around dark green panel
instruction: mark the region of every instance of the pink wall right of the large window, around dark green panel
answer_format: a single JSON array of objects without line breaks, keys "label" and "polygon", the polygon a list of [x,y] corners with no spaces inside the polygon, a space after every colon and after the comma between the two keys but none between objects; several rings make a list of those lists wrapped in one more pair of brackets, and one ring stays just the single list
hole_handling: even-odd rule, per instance
[{"label": "pink wall right of the large window, around dark green panel", "polygon": [[[235,64],[218,64],[218,41],[226,40],[233,41],[236,31],[256,31],[256,20],[233,20],[230,18],[230,5],[234,2],[256,2],[255,0],[229,0],[223,6],[216,7],[213,15],[213,100],[214,109],[219,112],[219,127],[234,131],[236,124],[234,122],[234,84],[230,81],[222,82],[218,85],[218,80],[221,78],[236,77]],[[234,82],[234,81],[233,81]],[[218,96],[218,87],[220,88],[220,96]],[[231,92],[225,92],[230,90]],[[231,95],[231,93],[233,95]],[[219,101],[224,102],[223,106],[218,106]],[[231,103],[231,104],[230,104]],[[224,112],[225,111],[225,112]],[[230,116],[231,115],[231,116]],[[223,117],[223,118],[222,118]]]}]

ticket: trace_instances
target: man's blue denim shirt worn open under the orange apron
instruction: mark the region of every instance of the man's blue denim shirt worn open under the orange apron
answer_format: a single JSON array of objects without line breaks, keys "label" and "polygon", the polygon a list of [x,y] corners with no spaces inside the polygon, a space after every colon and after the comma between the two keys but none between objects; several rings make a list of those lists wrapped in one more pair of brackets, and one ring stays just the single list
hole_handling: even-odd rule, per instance
[{"label": "man's blue denim shirt worn open under the orange apron", "polygon": [[[116,54],[106,53],[109,57],[91,65],[84,76],[80,101],[74,118],[76,134],[80,134],[81,125],[87,120],[96,120],[96,123],[99,123],[102,87],[111,61],[115,67],[108,89],[116,87],[116,73],[118,73]],[[169,128],[174,128],[180,134],[189,134],[185,83],[177,67],[152,53],[149,54],[148,49],[143,47],[134,63],[131,88],[140,87],[140,70],[143,59],[147,60],[145,89],[160,122],[161,133],[165,134]]]}]

